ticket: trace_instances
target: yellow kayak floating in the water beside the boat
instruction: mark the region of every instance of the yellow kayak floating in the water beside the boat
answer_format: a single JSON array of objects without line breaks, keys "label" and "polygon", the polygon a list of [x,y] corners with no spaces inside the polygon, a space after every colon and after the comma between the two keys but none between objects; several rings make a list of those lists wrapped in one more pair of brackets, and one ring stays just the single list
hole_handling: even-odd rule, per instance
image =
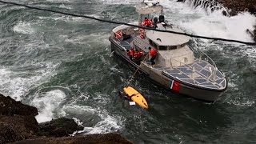
[{"label": "yellow kayak floating in the water beside the boat", "polygon": [[137,90],[130,86],[124,87],[123,90],[132,101],[138,104],[138,106],[142,106],[144,109],[149,108],[146,99]]}]

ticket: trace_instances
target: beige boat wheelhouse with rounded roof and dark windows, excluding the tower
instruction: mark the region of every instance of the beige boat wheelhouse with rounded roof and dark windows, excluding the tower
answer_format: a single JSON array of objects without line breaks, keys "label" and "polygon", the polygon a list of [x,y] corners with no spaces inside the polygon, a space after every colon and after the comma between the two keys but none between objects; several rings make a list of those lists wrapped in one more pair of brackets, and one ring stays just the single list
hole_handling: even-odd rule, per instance
[{"label": "beige boat wheelhouse with rounded roof and dark windows, excluding the tower", "polygon": [[[182,32],[176,26],[165,26],[163,23],[158,23],[157,26],[156,29],[158,30]],[[175,67],[194,62],[193,51],[186,45],[190,37],[146,30],[146,38],[144,40],[158,50],[156,63],[160,66]]]}]

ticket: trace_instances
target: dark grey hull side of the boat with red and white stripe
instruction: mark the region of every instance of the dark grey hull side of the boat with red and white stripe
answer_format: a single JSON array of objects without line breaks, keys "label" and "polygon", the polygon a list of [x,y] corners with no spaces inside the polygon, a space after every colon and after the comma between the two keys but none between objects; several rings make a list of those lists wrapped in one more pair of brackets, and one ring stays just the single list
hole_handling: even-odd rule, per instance
[{"label": "dark grey hull side of the boat with red and white stripe", "polygon": [[[121,58],[126,60],[126,62],[129,62],[132,66],[138,68],[138,65],[128,58],[125,48],[118,45],[118,42],[115,42],[111,37],[110,43],[111,50],[114,51],[115,54],[118,54]],[[214,90],[190,85],[188,83],[179,81],[177,78],[171,78],[170,76],[162,74],[161,70],[152,70],[150,66],[145,65],[144,63],[142,63],[139,69],[146,75],[146,77],[149,77],[150,79],[154,80],[154,82],[157,82],[159,85],[168,90],[206,102],[215,102],[218,100],[222,92],[226,90],[226,87],[222,90]]]}]

